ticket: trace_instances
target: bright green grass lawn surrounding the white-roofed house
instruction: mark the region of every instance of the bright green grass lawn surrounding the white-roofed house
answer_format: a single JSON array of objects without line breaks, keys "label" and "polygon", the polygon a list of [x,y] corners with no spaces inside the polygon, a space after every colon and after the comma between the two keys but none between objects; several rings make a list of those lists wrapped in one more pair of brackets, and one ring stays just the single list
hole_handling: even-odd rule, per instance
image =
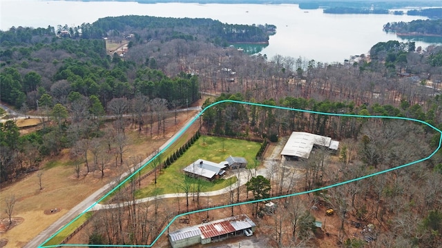
[{"label": "bright green grass lawn surrounding the white-roofed house", "polygon": [[[182,184],[182,168],[191,165],[198,158],[220,163],[228,156],[242,156],[247,159],[249,165],[255,164],[255,156],[260,149],[260,143],[243,141],[234,138],[220,138],[213,136],[201,136],[184,154],[170,167],[163,169],[157,175],[156,187],[149,185],[136,192],[137,198],[154,196],[155,194],[170,194],[183,192],[178,185]],[[222,189],[235,183],[236,180],[218,179],[211,182],[201,180],[202,192],[210,192]]]}]

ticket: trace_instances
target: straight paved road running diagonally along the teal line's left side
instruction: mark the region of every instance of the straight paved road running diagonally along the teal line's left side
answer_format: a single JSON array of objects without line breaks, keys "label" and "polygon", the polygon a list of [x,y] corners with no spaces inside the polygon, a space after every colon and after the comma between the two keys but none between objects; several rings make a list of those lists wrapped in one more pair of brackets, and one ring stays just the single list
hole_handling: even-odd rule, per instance
[{"label": "straight paved road running diagonally along the teal line's left side", "polygon": [[[200,110],[200,108],[198,108],[198,107],[197,107],[197,109]],[[189,110],[190,110],[190,108],[189,108]],[[182,134],[184,132],[184,129],[190,125],[190,123],[193,121],[193,119],[196,118],[196,116],[198,116],[198,113],[195,114],[195,116],[193,116],[192,118],[190,118],[189,121],[187,121],[186,124],[184,124],[182,126],[182,128],[177,133],[175,133],[175,135],[173,135],[171,138],[169,138],[169,140],[166,141],[166,143],[164,143],[160,147],[159,150],[161,151],[162,149],[164,149],[164,147],[168,146],[173,141],[175,141],[177,136],[179,136],[180,134]],[[131,172],[134,172],[141,165],[144,165],[153,156],[155,156],[155,154],[151,154],[150,156],[148,156],[148,158],[144,159],[144,161],[142,161],[142,163],[133,167]],[[122,174],[122,176],[120,176],[120,178],[126,178],[126,176],[128,176],[128,174],[129,174],[128,172],[125,172],[124,174]],[[40,247],[40,245],[42,245],[43,242],[45,242],[48,238],[50,238],[50,236],[55,234],[55,232],[58,231],[59,229],[61,229],[61,227],[64,227],[66,224],[68,224],[70,222],[70,220],[73,220],[73,218],[77,217],[82,212],[90,209],[90,207],[92,205],[95,205],[96,201],[99,198],[101,198],[102,196],[104,196],[104,194],[109,192],[109,190],[113,189],[113,187],[115,187],[115,181],[108,183],[108,184],[104,185],[102,188],[98,189],[95,193],[88,196],[88,198],[81,201],[81,203],[79,203],[78,205],[76,205],[75,207],[70,209],[70,211],[68,211],[68,213],[66,213],[64,216],[61,216],[61,218],[59,218],[57,221],[55,221],[55,223],[52,223],[52,225],[50,225],[47,229],[42,231],[39,235],[37,235],[37,237],[30,240],[30,242],[28,242],[28,244],[26,246],[24,246],[24,248]]]}]

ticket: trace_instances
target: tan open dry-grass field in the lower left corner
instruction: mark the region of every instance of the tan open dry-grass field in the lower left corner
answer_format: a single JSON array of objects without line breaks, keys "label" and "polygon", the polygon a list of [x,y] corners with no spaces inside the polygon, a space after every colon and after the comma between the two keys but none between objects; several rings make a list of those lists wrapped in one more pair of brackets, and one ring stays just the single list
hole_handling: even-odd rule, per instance
[{"label": "tan open dry-grass field in the lower left corner", "polygon": [[[23,223],[2,234],[3,238],[9,240],[6,247],[23,247],[31,238],[66,214],[79,200],[92,194],[108,180],[95,178],[93,174],[77,179],[73,176],[73,166],[61,162],[41,171],[44,173],[42,190],[39,190],[39,172],[29,174],[19,183],[2,189],[0,200],[3,202],[4,198],[15,195],[17,203],[12,216],[24,219]],[[72,196],[73,192],[75,197],[66,197]],[[55,208],[56,214],[45,214],[47,209]],[[7,217],[4,211],[1,214],[1,218]]]}]

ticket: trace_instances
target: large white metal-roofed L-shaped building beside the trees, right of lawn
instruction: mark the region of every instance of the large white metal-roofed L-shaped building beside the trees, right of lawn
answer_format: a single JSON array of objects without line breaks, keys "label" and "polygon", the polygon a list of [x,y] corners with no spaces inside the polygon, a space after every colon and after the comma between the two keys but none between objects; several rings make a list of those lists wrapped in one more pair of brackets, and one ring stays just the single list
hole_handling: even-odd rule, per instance
[{"label": "large white metal-roofed L-shaped building beside the trees, right of lawn", "polygon": [[336,147],[338,149],[339,142],[334,141],[332,143],[332,138],[318,134],[292,132],[289,140],[282,148],[281,155],[309,158],[314,145],[329,147],[330,149],[335,149],[334,147]]}]

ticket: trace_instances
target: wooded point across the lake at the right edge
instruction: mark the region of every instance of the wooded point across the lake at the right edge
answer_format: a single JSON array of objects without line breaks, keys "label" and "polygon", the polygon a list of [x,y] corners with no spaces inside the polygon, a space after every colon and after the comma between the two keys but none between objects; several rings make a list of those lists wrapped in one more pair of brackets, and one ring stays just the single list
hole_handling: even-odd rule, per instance
[{"label": "wooded point across the lake at the right edge", "polygon": [[[441,11],[442,12],[442,11]],[[414,20],[410,22],[394,22],[384,25],[385,32],[395,32],[396,34],[415,34],[442,36],[442,19],[439,20]]]}]

